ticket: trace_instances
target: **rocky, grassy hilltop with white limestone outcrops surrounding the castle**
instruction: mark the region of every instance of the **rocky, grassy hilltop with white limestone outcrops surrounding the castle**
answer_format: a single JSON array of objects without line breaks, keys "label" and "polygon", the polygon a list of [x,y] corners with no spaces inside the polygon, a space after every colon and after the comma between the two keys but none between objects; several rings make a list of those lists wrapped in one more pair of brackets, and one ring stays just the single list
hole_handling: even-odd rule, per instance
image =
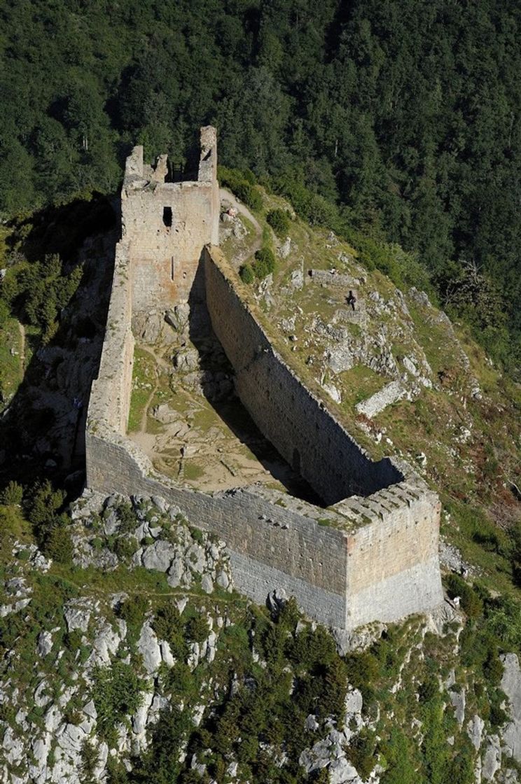
[{"label": "rocky, grassy hilltop with white limestone outcrops surrounding the castle", "polygon": [[[81,445],[72,446],[82,416],[74,398],[85,401],[97,368],[117,229],[78,238],[63,271],[75,280],[81,260],[82,278],[57,293],[68,300],[50,324],[36,309],[27,329],[31,289],[22,284],[27,270],[42,272],[35,260],[39,248],[43,261],[49,238],[37,221],[26,222],[8,238],[18,253],[31,250],[31,260],[8,256],[6,279],[20,285],[2,327],[1,426],[13,438],[2,441],[2,476],[4,485],[16,477],[24,486],[23,498],[17,485],[5,487],[0,506],[4,779],[68,774],[88,782],[107,771],[108,782],[471,784],[479,771],[483,780],[513,784],[519,389],[421,288],[397,288],[340,236],[252,187],[259,198],[247,211],[221,194],[221,241],[238,285],[283,357],[329,396],[371,455],[405,456],[440,492],[446,590],[459,607],[453,601],[441,614],[359,630],[352,651],[339,655],[330,634],[293,602],[275,596],[258,608],[235,593],[222,543],[161,499],[93,495],[62,512],[64,495],[42,483],[67,479],[72,495],[81,481],[71,477],[71,454],[81,466]],[[271,228],[274,210],[286,216],[281,236]],[[248,282],[243,268],[255,270],[260,250],[269,266],[265,251],[274,254],[273,271],[257,265],[260,278],[253,271]],[[405,281],[417,274],[397,246],[382,244],[381,253]],[[46,281],[63,278],[53,270],[44,267]],[[346,302],[350,289],[355,310]],[[30,340],[22,353],[23,332]],[[192,348],[188,339],[181,355]],[[179,355],[175,343],[170,353]],[[180,360],[174,368],[170,354],[153,365],[144,360],[133,382],[134,421],[145,417],[161,435],[168,423],[154,396],[166,392],[174,369],[191,373],[190,430],[204,446],[207,418],[215,417],[198,391],[205,368]],[[218,372],[226,401],[229,368]],[[381,411],[374,399],[368,407],[390,384],[397,399],[387,396]],[[236,470],[226,441],[221,448]],[[197,466],[201,456],[195,449],[188,458]],[[193,468],[185,478],[190,470],[199,481]]]}]

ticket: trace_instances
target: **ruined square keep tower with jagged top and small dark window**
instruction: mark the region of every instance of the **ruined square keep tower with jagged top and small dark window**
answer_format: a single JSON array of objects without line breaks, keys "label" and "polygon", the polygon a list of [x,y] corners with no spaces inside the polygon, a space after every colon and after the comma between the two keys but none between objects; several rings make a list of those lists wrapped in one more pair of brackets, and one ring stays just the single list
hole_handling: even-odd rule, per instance
[{"label": "ruined square keep tower with jagged top and small dark window", "polygon": [[219,243],[217,137],[201,129],[198,179],[167,182],[166,155],[155,168],[143,147],[126,160],[122,187],[122,242],[132,270],[133,315],[166,310],[188,300],[202,249]]}]

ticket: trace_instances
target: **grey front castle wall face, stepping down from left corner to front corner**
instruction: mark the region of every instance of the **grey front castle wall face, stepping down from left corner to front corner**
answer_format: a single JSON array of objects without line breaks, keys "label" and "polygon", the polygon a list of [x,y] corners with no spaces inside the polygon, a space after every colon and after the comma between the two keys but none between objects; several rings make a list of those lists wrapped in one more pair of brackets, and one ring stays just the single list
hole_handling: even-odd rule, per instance
[{"label": "grey front castle wall face, stepping down from left corner to front corner", "polygon": [[283,503],[282,493],[271,492],[266,498],[253,488],[242,488],[208,495],[176,485],[156,474],[133,442],[104,423],[90,422],[86,443],[88,487],[122,495],[161,495],[179,506],[191,524],[224,539],[235,583],[247,596],[264,603],[270,591],[282,588],[297,597],[308,615],[344,627],[344,532],[275,503]]}]

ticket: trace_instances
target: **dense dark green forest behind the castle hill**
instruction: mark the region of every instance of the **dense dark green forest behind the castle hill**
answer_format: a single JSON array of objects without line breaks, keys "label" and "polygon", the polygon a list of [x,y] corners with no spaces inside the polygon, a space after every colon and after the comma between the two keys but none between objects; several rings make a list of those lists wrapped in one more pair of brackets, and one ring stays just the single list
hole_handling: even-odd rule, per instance
[{"label": "dense dark green forest behind the castle hill", "polygon": [[[521,365],[521,5],[508,0],[5,0],[4,219],[116,191],[133,143],[220,161],[417,252]],[[337,228],[337,227],[335,227]]]}]

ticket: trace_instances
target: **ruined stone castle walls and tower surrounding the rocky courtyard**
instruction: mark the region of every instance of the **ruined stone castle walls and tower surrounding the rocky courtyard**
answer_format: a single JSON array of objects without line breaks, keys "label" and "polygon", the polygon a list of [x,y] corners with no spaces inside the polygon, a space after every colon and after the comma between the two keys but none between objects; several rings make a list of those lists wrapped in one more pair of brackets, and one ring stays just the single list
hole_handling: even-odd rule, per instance
[{"label": "ruined stone castle walls and tower surrounding the rocky courtyard", "polygon": [[[406,463],[374,463],[275,349],[217,245],[215,130],[202,129],[199,179],[166,183],[134,149],[122,188],[122,240],[86,430],[87,485],[161,495],[228,544],[235,583],[255,601],[284,589],[342,629],[394,621],[443,599],[439,501]],[[254,485],[197,492],[158,474],[126,437],[133,320],[206,296],[242,404],[327,510]],[[323,518],[327,518],[324,525]]]}]

